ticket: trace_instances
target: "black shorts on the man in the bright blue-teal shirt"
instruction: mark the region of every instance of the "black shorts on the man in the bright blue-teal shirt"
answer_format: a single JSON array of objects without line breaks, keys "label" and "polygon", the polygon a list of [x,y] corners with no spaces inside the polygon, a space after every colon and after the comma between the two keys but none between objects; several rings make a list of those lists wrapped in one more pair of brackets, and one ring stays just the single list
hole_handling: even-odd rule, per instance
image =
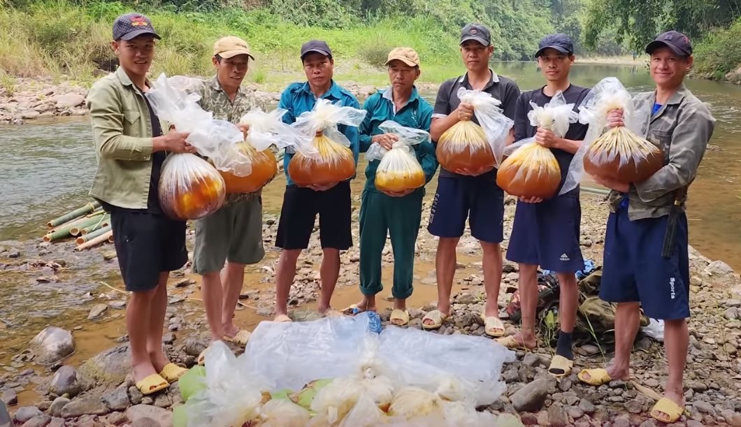
[{"label": "black shorts on the man in the bright blue-teal shirt", "polygon": [[306,249],[319,214],[319,240],[322,249],[347,251],[353,245],[350,233],[350,182],[340,182],[328,191],[313,191],[289,185],[285,188],[278,222],[276,246]]}]

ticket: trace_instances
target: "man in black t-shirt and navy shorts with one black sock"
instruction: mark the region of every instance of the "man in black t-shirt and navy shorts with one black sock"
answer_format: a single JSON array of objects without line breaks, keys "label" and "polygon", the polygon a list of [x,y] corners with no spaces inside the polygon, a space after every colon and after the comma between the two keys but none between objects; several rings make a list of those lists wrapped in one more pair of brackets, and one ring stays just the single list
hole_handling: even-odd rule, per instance
[{"label": "man in black t-shirt and navy shorts with one black sock", "polygon": [[535,138],[540,145],[550,148],[561,170],[561,183],[556,196],[551,199],[523,198],[517,202],[507,251],[507,259],[519,263],[519,294],[522,302],[522,329],[511,337],[499,339],[509,348],[535,348],[535,311],[538,297],[537,269],[556,271],[561,288],[559,320],[561,331],[556,356],[548,369],[556,376],[571,371],[574,355],[571,351],[571,333],[576,320],[576,271],[584,268],[584,259],[579,248],[579,188],[561,196],[559,192],[568,174],[574,153],[587,133],[587,125],[579,122],[569,126],[563,138],[556,137],[550,130],[536,128],[530,124],[528,112],[530,102],[543,106],[561,92],[568,104],[578,111],[589,90],[571,85],[568,73],[574,64],[574,46],[564,34],[545,36],[535,54],[546,85],[522,93],[517,100],[514,139]]}]

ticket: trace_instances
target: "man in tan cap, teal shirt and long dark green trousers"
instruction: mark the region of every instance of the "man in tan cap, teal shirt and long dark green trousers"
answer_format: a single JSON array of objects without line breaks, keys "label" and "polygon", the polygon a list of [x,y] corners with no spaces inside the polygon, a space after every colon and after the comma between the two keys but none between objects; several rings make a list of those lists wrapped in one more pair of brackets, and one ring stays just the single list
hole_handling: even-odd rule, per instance
[{"label": "man in tan cap, teal shirt and long dark green trousers", "polygon": [[[368,111],[360,125],[360,150],[363,152],[373,144],[391,150],[398,137],[379,129],[379,125],[387,120],[407,128],[430,131],[433,108],[414,87],[419,78],[419,56],[409,47],[397,47],[388,54],[386,65],[391,87],[371,95],[363,106]],[[430,182],[437,169],[435,149],[431,142],[422,142],[413,148],[425,172],[425,183]],[[391,322],[406,325],[409,322],[406,299],[413,289],[414,243],[422,221],[425,188],[401,193],[378,190],[374,182],[379,163],[379,160],[373,160],[365,169],[366,183],[360,205],[360,291],[363,299],[350,305],[346,311],[376,310],[376,294],[383,289],[381,255],[388,232],[393,247],[391,294],[394,309]]]}]

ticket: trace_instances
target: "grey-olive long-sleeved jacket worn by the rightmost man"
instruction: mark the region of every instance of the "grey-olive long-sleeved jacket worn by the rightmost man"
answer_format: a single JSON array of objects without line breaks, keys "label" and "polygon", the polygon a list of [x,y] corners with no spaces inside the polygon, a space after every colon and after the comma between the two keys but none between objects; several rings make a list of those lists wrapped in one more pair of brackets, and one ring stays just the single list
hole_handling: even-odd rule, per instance
[{"label": "grey-olive long-sleeved jacket worn by the rightmost man", "polygon": [[[656,92],[639,93],[636,103],[656,103]],[[628,197],[628,218],[659,218],[668,215],[674,197],[685,209],[686,190],[697,176],[708,141],[713,135],[715,119],[707,105],[684,85],[651,116],[646,139],[664,152],[664,167],[643,182],[631,183],[627,194],[611,191],[608,196],[615,212]]]}]

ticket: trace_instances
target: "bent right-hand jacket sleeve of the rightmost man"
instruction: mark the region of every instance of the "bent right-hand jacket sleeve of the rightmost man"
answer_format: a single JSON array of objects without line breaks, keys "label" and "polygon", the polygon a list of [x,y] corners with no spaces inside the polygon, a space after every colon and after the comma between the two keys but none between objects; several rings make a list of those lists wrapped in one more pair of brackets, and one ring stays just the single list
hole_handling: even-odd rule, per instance
[{"label": "bent right-hand jacket sleeve of the rightmost man", "polygon": [[639,198],[652,202],[690,184],[697,176],[714,127],[715,119],[704,105],[689,105],[682,110],[671,133],[669,162],[650,178],[634,183]]}]

